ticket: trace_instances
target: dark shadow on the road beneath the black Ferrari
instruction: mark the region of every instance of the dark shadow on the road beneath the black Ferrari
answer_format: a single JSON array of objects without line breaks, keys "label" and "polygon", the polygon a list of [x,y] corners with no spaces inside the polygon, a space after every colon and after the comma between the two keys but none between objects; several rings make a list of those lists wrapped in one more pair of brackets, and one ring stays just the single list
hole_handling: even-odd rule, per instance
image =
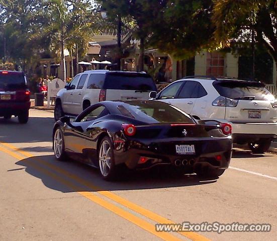
[{"label": "dark shadow on the road beneath the black Ferrari", "polygon": [[[196,175],[155,172],[155,170],[128,172],[120,181],[107,182],[101,178],[97,169],[74,161],[58,162],[54,156],[26,158],[16,164],[26,167],[25,171],[27,173],[40,178],[48,188],[61,192],[155,189],[203,185],[216,182],[215,179],[200,179]],[[64,179],[66,183],[62,181],[63,184],[61,184],[60,180],[57,180],[57,177],[52,176],[53,174],[57,175],[58,179]]]}]

